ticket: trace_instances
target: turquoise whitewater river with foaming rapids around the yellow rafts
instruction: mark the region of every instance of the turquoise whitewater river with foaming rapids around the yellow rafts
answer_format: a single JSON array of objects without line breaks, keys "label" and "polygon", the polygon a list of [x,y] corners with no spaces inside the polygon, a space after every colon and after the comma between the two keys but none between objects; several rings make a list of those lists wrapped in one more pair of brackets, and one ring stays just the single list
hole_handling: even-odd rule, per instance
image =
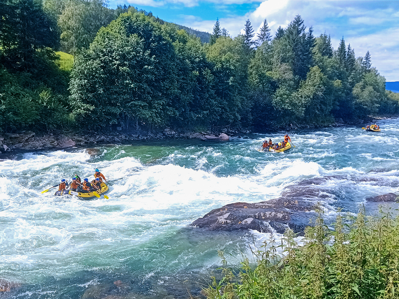
[{"label": "turquoise whitewater river with foaming rapids around the yellow rafts", "polygon": [[[399,186],[399,120],[381,133],[345,126],[290,132],[285,153],[261,153],[261,141],[285,132],[229,142],[163,140],[20,154],[0,162],[0,278],[18,287],[0,298],[186,298],[220,266],[233,264],[265,234],[201,234],[188,224],[234,202],[279,197],[288,185],[328,177],[326,221],[337,207],[356,213],[366,197]],[[91,178],[99,168],[113,183],[109,199],[82,201],[40,191]],[[120,280],[120,281],[119,281]],[[116,281],[116,282],[115,282]],[[114,283],[115,282],[115,283]],[[97,296],[97,297],[96,297]],[[113,297],[112,297],[113,296]]]}]

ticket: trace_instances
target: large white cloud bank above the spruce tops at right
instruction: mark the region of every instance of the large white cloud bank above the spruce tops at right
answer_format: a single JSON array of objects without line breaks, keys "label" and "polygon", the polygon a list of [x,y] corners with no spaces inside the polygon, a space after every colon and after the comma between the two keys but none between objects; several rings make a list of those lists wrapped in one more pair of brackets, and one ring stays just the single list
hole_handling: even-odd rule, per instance
[{"label": "large white cloud bank above the spruce tops at right", "polygon": [[[213,0],[212,2],[228,0]],[[233,0],[231,0],[233,1]],[[399,81],[399,5],[398,2],[378,1],[322,1],[322,0],[266,0],[244,16],[220,18],[221,27],[233,36],[243,30],[249,18],[253,28],[259,28],[265,18],[274,34],[279,26],[286,26],[299,14],[305,25],[313,26],[314,35],[331,34],[334,45],[344,36],[357,56],[370,51],[374,67],[387,81]],[[189,19],[185,24],[211,32],[215,21]]]}]

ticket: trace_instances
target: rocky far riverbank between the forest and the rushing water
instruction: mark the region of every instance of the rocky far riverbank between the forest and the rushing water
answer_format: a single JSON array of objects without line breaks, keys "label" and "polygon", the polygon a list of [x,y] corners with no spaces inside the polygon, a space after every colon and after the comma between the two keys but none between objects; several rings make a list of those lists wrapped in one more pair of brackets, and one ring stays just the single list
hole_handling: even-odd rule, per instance
[{"label": "rocky far riverbank between the forest and the rushing water", "polygon": [[[334,126],[346,126],[367,124],[376,122],[380,119],[386,119],[387,117],[374,117],[368,118],[367,120],[358,120],[355,123],[344,123],[340,118],[333,124],[328,125],[317,125],[317,124],[296,124],[292,122],[288,127],[273,127],[270,128],[272,131],[276,130],[296,130],[306,128],[322,128],[322,127],[334,127]],[[66,149],[73,147],[87,147],[96,144],[128,144],[135,141],[146,141],[146,140],[164,140],[164,139],[199,139],[199,140],[213,140],[213,141],[227,141],[229,136],[243,136],[244,134],[251,133],[245,129],[230,129],[228,127],[219,128],[217,130],[209,130],[207,132],[192,132],[186,129],[174,130],[171,128],[165,128],[164,130],[157,131],[123,131],[122,128],[117,127],[117,131],[107,132],[61,132],[54,131],[49,133],[40,133],[32,131],[22,131],[16,133],[4,133],[0,135],[0,154],[7,153],[10,151],[29,151],[29,150],[49,150],[49,149]]]}]

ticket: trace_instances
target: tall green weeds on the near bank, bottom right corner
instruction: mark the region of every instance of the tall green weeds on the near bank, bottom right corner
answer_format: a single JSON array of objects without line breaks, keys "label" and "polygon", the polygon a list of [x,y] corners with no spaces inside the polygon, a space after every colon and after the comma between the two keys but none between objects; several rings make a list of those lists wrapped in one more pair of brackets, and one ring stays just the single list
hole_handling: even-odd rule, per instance
[{"label": "tall green weeds on the near bank, bottom right corner", "polygon": [[[334,230],[321,212],[298,246],[287,229],[284,244],[273,238],[255,253],[255,266],[244,258],[235,275],[223,252],[223,277],[205,293],[211,299],[394,299],[399,298],[399,216],[380,208],[346,220],[338,210]],[[282,254],[279,254],[282,252]]]}]

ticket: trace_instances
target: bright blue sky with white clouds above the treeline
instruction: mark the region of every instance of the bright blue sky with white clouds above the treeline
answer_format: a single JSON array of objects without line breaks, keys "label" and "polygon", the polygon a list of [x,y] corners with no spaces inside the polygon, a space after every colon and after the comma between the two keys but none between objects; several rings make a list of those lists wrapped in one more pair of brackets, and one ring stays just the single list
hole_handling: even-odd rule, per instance
[{"label": "bright blue sky with white clouds above the treeline", "polygon": [[109,0],[133,5],[161,19],[211,32],[216,18],[236,36],[249,18],[259,30],[265,18],[274,33],[300,14],[314,34],[326,32],[334,48],[342,36],[356,56],[370,51],[371,62],[387,81],[399,81],[399,1],[337,0]]}]

